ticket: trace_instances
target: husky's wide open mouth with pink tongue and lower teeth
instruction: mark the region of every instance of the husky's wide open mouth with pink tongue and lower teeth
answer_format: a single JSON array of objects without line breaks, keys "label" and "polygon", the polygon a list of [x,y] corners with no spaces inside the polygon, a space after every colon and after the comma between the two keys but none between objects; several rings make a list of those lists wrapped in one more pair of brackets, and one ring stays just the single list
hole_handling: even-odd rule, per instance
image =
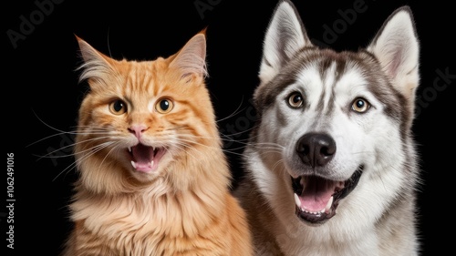
[{"label": "husky's wide open mouth with pink tongue and lower teeth", "polygon": [[321,224],[336,215],[339,200],[345,198],[358,184],[363,167],[345,181],[316,176],[292,178],[295,192],[295,213],[301,220]]}]

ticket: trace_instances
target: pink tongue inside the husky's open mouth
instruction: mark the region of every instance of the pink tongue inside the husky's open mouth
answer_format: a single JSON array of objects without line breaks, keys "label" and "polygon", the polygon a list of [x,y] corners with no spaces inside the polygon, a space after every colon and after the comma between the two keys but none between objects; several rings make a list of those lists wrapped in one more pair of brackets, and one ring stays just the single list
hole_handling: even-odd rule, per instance
[{"label": "pink tongue inside the husky's open mouth", "polygon": [[324,210],[335,189],[336,182],[331,180],[307,178],[305,189],[300,196],[301,208],[308,211]]}]

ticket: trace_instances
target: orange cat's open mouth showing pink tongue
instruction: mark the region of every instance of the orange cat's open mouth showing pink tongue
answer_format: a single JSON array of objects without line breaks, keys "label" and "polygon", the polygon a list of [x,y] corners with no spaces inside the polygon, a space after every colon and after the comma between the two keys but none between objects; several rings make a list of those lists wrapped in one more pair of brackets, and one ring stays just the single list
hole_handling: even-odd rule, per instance
[{"label": "orange cat's open mouth showing pink tongue", "polygon": [[128,150],[131,156],[131,165],[140,172],[156,170],[159,167],[161,157],[166,152],[165,148],[150,147],[141,143],[129,147]]}]

